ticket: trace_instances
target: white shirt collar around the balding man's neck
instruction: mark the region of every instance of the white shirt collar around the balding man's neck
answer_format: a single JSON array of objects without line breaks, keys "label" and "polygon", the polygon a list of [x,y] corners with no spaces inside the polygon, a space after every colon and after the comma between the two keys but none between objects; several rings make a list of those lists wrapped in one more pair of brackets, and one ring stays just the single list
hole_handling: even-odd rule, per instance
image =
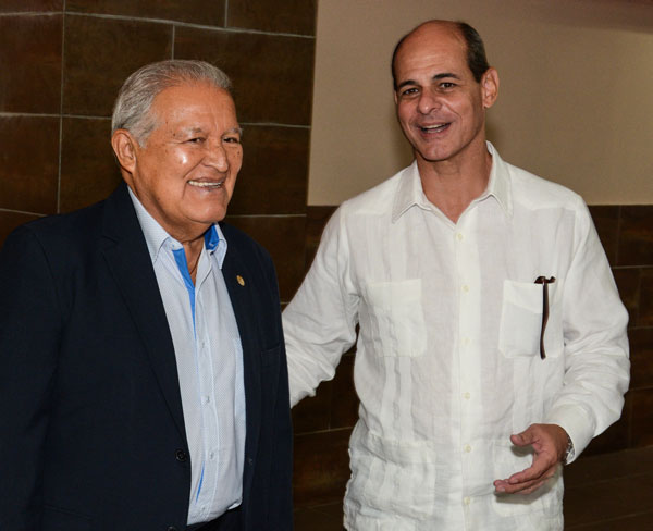
[{"label": "white shirt collar around the balding man's neck", "polygon": [[[485,192],[472,202],[479,202],[488,197],[494,197],[506,215],[510,217],[513,215],[513,199],[508,166],[498,156],[494,146],[489,141],[486,145],[488,151],[492,155],[490,180]],[[392,222],[396,222],[404,212],[414,206],[424,210],[432,209],[432,205],[427,199],[421,185],[417,161],[412,161],[412,164],[406,168],[399,177],[399,185],[392,209]]]}]

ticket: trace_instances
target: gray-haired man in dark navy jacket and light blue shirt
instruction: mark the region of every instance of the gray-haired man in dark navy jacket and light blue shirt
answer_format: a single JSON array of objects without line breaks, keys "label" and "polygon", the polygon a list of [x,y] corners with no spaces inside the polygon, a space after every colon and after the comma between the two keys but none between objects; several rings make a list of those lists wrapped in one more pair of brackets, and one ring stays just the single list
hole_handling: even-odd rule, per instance
[{"label": "gray-haired man in dark navy jacket and light blue shirt", "polygon": [[274,269],[221,221],[243,159],[230,87],[199,61],[132,74],[125,184],[7,239],[3,531],[292,529]]}]

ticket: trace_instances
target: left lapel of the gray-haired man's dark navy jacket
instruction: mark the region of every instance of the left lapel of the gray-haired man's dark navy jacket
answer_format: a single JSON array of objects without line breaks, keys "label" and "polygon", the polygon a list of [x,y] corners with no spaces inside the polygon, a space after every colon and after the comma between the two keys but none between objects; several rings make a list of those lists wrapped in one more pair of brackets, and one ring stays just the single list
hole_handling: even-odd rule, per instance
[{"label": "left lapel of the gray-haired man's dark navy jacket", "polygon": [[126,185],[106,201],[102,251],[125,299],[170,412],[186,440],[174,346],[159,285]]}]

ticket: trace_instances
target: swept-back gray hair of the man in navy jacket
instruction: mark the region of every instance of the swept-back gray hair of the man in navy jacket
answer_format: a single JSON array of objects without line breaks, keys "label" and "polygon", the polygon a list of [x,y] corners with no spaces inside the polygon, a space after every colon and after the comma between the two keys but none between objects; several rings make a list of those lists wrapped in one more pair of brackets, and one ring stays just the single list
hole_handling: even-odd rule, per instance
[{"label": "swept-back gray hair of the man in navy jacket", "polygon": [[229,76],[205,61],[171,59],[146,64],[127,77],[118,92],[111,134],[127,129],[143,145],[156,126],[157,116],[150,113],[150,108],[157,95],[185,83],[209,83],[232,94]]}]

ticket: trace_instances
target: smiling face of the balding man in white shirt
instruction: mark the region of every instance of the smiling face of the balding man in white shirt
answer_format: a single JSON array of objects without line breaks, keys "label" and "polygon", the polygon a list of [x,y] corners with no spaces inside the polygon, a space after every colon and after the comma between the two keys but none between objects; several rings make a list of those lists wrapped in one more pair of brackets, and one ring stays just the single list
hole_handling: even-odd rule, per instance
[{"label": "smiling face of the balding man in white shirt", "polygon": [[402,44],[395,59],[395,103],[418,164],[456,161],[485,149],[485,109],[498,89],[494,69],[478,83],[454,25],[431,23]]}]

